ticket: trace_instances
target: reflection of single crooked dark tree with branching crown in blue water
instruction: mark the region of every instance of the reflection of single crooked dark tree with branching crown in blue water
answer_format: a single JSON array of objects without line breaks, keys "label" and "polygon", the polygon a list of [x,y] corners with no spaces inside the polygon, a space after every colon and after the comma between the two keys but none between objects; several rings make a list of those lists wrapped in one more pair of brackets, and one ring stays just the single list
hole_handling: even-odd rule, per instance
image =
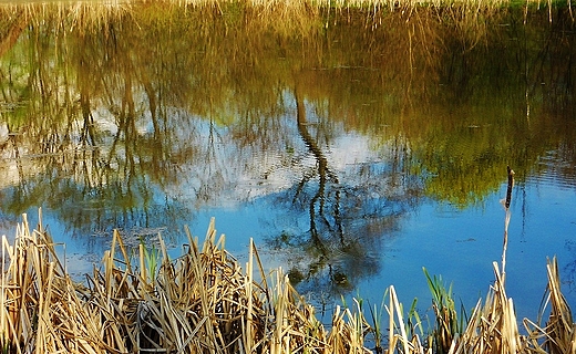
[{"label": "reflection of single crooked dark tree with branching crown in blue water", "polygon": [[[331,167],[325,149],[331,145],[335,127],[325,126],[329,117],[308,119],[305,86],[299,84],[295,90],[297,132],[306,148],[296,163],[308,167],[277,198],[289,204],[292,217],[287,225],[304,218],[309,228],[305,233],[285,230],[269,243],[289,254],[289,277],[301,291],[346,293],[379,271],[385,249],[381,242],[415,204],[421,185],[416,178],[394,183],[407,168],[399,164],[407,162],[398,155],[405,152],[402,147],[388,150],[397,157],[390,162],[366,162],[340,171]],[[313,163],[307,162],[309,157]],[[353,177],[342,183],[339,173]]]}]

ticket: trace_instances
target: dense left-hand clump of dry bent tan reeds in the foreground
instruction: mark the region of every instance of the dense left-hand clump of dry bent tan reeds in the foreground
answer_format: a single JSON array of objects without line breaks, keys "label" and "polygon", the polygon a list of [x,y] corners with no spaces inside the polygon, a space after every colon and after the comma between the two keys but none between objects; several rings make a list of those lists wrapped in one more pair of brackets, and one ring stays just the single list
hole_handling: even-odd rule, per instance
[{"label": "dense left-hand clump of dry bent tan reeds in the foreground", "polygon": [[114,232],[102,269],[86,275],[86,284],[65,273],[48,232],[29,229],[24,215],[14,243],[2,240],[8,263],[0,344],[7,352],[333,353],[332,345],[366,351],[354,340],[350,321],[357,317],[335,314],[328,333],[281,270],[264,273],[254,244],[244,272],[224,250],[224,236],[216,238],[214,220],[202,244],[187,232],[188,251],[174,260],[158,236],[154,275],[150,250],[131,252]]}]

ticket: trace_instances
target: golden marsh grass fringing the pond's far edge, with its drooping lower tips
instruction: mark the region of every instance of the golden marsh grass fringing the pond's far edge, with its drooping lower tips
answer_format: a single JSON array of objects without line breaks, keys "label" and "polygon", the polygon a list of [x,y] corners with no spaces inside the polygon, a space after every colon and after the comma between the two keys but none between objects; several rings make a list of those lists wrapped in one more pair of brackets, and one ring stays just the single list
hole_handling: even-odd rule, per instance
[{"label": "golden marsh grass fringing the pond's far edge, with its drooping lower tips", "polygon": [[[485,19],[496,14],[500,10],[522,7],[548,11],[552,21],[553,8],[567,7],[572,14],[572,0],[111,0],[111,1],[0,1],[0,13],[3,20],[18,19],[18,23],[7,22],[8,30],[14,28],[20,31],[27,24],[42,23],[47,18],[55,18],[60,30],[71,31],[104,31],[113,32],[111,23],[122,19],[134,20],[136,13],[146,9],[177,9],[178,13],[188,8],[215,9],[222,15],[229,14],[229,10],[249,10],[266,27],[280,32],[298,33],[310,31],[317,24],[311,20],[325,21],[331,14],[340,13],[344,18],[350,10],[361,10],[367,19],[381,22],[382,17],[389,13],[401,12],[412,17],[414,12],[424,9],[435,9],[435,15],[443,21],[457,22],[464,35],[474,35],[483,27]],[[157,13],[158,11],[152,11]],[[0,25],[0,35],[6,30]],[[12,32],[13,29],[12,29]],[[1,37],[0,37],[1,39]],[[10,43],[10,38],[7,38]],[[0,53],[2,45],[0,42]]]}]

